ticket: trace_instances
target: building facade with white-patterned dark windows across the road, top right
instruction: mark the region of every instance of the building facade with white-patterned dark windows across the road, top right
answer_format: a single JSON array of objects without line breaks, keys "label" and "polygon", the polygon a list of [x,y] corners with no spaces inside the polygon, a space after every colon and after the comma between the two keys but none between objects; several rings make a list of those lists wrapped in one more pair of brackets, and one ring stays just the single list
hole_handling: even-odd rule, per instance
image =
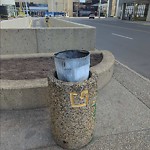
[{"label": "building facade with white-patterned dark windows across the road, top right", "polygon": [[[98,4],[100,0],[86,0]],[[101,0],[107,2],[107,17],[116,16],[121,19],[150,20],[150,0]]]}]

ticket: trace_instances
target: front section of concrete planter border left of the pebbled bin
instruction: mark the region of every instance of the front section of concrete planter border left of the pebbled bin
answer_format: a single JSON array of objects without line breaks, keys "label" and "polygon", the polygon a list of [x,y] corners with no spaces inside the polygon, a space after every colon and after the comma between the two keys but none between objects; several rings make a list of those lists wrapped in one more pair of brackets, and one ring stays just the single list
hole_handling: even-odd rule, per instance
[{"label": "front section of concrete planter border left of the pebbled bin", "polygon": [[46,107],[47,79],[0,80],[0,110]]}]

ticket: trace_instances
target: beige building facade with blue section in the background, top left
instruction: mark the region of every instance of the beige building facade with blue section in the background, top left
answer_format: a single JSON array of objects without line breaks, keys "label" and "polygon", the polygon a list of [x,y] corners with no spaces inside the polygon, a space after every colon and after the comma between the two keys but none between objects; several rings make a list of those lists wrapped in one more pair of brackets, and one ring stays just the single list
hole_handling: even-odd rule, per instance
[{"label": "beige building facade with blue section in the background, top left", "polygon": [[15,2],[18,7],[23,7],[25,13],[27,5],[28,10],[38,16],[44,12],[64,12],[68,16],[73,15],[73,0],[15,0]]}]

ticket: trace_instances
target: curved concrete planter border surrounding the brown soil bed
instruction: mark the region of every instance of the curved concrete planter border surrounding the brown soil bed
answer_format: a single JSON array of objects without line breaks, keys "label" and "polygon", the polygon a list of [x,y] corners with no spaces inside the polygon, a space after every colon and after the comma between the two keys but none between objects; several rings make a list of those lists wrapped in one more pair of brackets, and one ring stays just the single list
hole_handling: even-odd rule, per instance
[{"label": "curved concrete planter border surrounding the brown soil bed", "polygon": [[[91,71],[98,73],[98,88],[103,88],[113,74],[114,57],[108,51],[95,51],[103,55],[102,61],[91,67]],[[9,55],[1,56],[1,59],[50,57],[51,54]],[[47,78],[35,80],[0,80],[0,110],[31,109],[47,106],[48,82]]]}]

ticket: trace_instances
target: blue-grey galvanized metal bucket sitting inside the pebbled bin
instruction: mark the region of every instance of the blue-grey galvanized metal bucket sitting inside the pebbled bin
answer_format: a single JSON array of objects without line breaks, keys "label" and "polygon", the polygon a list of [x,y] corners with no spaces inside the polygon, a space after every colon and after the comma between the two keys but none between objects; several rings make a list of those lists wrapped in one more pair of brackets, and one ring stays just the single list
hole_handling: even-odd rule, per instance
[{"label": "blue-grey galvanized metal bucket sitting inside the pebbled bin", "polygon": [[80,82],[89,78],[90,53],[85,50],[66,50],[54,54],[59,80]]}]

